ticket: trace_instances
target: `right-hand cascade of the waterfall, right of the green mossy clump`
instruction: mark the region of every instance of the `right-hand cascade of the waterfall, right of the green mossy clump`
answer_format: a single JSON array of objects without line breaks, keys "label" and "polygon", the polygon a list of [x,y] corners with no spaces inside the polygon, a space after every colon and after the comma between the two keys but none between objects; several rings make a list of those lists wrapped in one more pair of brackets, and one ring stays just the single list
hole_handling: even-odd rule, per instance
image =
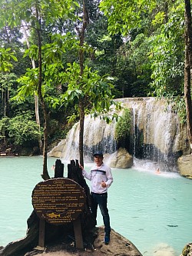
[{"label": "right-hand cascade of the waterfall, right of the green mossy clump", "polygon": [[128,151],[136,158],[156,161],[162,170],[177,171],[177,158],[189,150],[186,128],[164,100],[124,99],[131,109],[132,128]]}]

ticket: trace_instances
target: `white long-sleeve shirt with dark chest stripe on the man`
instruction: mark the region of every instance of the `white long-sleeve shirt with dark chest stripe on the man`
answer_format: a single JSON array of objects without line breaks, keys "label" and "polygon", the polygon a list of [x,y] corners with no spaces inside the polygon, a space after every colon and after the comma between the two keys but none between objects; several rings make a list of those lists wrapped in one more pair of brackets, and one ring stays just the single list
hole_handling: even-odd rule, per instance
[{"label": "white long-sleeve shirt with dark chest stripe on the man", "polygon": [[[108,188],[111,186],[113,182],[113,176],[111,174],[111,168],[104,163],[101,166],[94,165],[91,168],[90,173],[85,170],[82,170],[82,174],[84,178],[87,178],[91,181],[91,192],[97,194],[103,194],[108,191]],[[106,188],[102,188],[101,183],[104,181],[106,183]]]}]

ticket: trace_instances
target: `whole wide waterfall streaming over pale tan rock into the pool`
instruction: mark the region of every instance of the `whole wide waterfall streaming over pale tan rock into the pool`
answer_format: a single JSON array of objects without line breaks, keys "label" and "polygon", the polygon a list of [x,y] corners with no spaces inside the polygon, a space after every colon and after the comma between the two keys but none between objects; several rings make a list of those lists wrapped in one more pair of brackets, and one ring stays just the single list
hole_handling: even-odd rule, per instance
[{"label": "whole wide waterfall streaming over pale tan rock into the pool", "polygon": [[[171,105],[155,98],[121,98],[131,110],[131,131],[125,148],[135,158],[157,162],[161,169],[177,171],[177,158],[187,154],[190,147],[184,125]],[[120,113],[121,115],[121,113]],[[84,119],[84,160],[90,161],[95,150],[112,154],[117,150],[114,140],[115,123],[110,125],[100,118]],[[49,156],[78,159],[79,123],[69,131],[65,140],[49,152]]]}]

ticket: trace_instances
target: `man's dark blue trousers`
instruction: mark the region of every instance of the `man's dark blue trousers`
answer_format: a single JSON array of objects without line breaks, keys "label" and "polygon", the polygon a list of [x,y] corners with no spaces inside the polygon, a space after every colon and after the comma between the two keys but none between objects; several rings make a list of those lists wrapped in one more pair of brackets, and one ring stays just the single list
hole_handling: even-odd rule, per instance
[{"label": "man's dark blue trousers", "polygon": [[108,193],[104,194],[96,194],[91,192],[91,211],[93,214],[93,218],[97,219],[97,211],[98,211],[98,205],[101,210],[101,214],[103,216],[103,221],[104,221],[104,231],[105,232],[110,232],[111,227],[110,227],[110,218],[108,214]]}]

